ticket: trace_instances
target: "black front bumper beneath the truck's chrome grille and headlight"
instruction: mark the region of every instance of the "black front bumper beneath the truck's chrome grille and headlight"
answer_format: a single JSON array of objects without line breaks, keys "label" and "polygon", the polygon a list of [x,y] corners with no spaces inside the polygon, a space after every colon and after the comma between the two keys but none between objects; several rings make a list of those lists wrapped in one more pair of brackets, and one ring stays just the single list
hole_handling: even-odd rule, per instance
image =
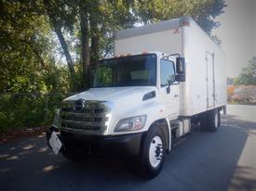
[{"label": "black front bumper beneath the truck's chrome grille and headlight", "polygon": [[[51,132],[47,131],[47,143]],[[58,136],[63,144],[61,149],[69,146],[92,156],[136,156],[141,150],[142,133],[100,136],[61,132]]]}]

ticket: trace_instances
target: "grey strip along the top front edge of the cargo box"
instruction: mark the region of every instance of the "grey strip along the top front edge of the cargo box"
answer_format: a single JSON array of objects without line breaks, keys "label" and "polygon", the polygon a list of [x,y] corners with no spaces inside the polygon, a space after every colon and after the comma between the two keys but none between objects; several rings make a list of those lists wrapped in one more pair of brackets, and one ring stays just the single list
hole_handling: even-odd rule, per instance
[{"label": "grey strip along the top front edge of the cargo box", "polygon": [[177,19],[168,19],[153,24],[147,24],[141,27],[135,27],[127,30],[115,32],[115,40],[140,36],[147,33],[162,32],[181,27],[182,22],[193,20],[190,17],[182,17]]}]

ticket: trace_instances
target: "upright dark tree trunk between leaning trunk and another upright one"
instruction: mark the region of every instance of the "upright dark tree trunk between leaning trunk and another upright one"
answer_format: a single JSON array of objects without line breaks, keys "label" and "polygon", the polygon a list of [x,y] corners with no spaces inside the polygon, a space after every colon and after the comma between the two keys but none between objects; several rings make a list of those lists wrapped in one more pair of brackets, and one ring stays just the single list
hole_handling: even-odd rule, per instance
[{"label": "upright dark tree trunk between leaning trunk and another upright one", "polygon": [[84,88],[89,86],[88,82],[88,67],[90,64],[89,56],[89,23],[88,13],[80,7],[80,27],[82,33],[82,66],[83,66],[83,84]]}]

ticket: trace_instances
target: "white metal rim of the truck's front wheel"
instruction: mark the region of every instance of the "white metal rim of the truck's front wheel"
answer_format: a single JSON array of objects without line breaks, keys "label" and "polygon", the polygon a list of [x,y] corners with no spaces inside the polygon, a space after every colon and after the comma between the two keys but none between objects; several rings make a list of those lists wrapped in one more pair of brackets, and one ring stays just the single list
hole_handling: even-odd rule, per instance
[{"label": "white metal rim of the truck's front wheel", "polygon": [[149,162],[152,167],[156,168],[163,159],[163,141],[160,136],[156,135],[149,146]]}]

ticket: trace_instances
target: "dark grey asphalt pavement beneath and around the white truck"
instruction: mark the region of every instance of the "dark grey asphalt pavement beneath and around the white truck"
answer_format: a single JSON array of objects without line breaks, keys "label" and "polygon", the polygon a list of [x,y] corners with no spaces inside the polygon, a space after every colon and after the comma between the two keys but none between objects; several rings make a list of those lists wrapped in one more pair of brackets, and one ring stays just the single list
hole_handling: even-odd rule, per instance
[{"label": "dark grey asphalt pavement beneath and around the white truck", "polygon": [[[44,134],[0,145],[1,190],[256,190],[255,108],[234,106],[216,133],[193,134],[172,148],[163,171],[147,181],[124,159],[72,162],[47,148]],[[247,118],[251,115],[251,118]]]}]

